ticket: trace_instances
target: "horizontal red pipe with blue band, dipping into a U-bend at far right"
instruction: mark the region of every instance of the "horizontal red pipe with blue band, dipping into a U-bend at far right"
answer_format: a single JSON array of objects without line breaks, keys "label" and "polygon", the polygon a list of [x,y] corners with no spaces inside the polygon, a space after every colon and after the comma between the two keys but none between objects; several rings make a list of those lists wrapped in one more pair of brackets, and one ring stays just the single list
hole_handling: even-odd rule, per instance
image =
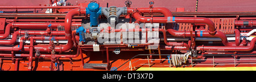
[{"label": "horizontal red pipe with blue band, dipping into a U-bend at far right", "polygon": [[[191,37],[190,32],[188,31],[176,31],[174,29],[167,29],[167,31],[175,37]],[[239,46],[240,45],[240,31],[238,29],[234,29],[236,33],[236,44],[234,42],[228,42],[226,35],[223,32],[217,31],[216,34],[213,36],[209,34],[207,31],[196,31],[193,32],[194,37],[218,37],[221,38],[222,44],[225,46]]]}]

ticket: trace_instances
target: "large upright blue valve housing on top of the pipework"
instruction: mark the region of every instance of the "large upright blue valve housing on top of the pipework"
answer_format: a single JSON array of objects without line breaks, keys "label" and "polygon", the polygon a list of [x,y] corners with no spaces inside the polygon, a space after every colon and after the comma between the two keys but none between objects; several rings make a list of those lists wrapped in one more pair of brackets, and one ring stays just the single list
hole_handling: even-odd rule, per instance
[{"label": "large upright blue valve housing on top of the pipework", "polygon": [[99,16],[101,15],[101,7],[97,3],[89,3],[86,7],[86,15],[90,14],[90,27],[97,26],[99,23]]}]

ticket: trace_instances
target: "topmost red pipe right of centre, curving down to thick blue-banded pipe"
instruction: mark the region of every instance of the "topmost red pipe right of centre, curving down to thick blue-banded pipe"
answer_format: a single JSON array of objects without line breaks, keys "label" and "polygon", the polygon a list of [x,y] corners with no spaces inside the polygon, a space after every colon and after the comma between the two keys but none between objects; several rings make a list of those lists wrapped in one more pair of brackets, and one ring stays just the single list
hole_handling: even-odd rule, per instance
[{"label": "topmost red pipe right of centre, curving down to thick blue-banded pipe", "polygon": [[147,12],[147,13],[162,13],[165,17],[172,16],[172,12],[168,10],[166,7],[144,7],[144,8],[127,8],[127,13],[133,13],[135,10],[138,10],[139,12]]}]

